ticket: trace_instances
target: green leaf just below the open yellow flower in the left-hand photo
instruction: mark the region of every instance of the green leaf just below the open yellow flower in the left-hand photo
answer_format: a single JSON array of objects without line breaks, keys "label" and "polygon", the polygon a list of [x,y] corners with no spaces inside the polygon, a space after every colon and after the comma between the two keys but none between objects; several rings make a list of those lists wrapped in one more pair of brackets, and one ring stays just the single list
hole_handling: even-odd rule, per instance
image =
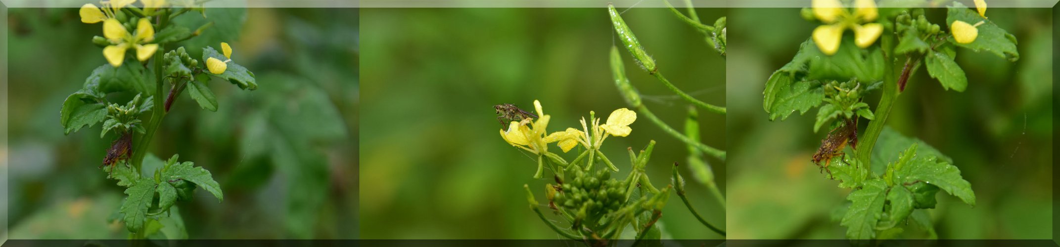
[{"label": "green leaf just below the open yellow flower in the left-hand photo", "polygon": [[85,88],[104,94],[131,91],[154,95],[154,76],[144,75],[144,71],[143,66],[138,64],[125,64],[118,68],[106,64],[92,70],[92,74],[85,80]]}]

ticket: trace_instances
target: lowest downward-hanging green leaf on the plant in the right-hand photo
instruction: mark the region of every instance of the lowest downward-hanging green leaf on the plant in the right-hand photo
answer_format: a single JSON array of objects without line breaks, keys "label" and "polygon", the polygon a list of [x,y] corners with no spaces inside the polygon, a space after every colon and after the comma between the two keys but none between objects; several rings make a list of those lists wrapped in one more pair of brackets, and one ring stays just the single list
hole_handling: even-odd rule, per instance
[{"label": "lowest downward-hanging green leaf on the plant in the right-hand photo", "polygon": [[865,181],[861,190],[847,196],[851,201],[850,209],[840,223],[847,227],[847,239],[871,240],[876,236],[876,224],[883,212],[886,190],[887,184],[883,179],[877,178]]}]

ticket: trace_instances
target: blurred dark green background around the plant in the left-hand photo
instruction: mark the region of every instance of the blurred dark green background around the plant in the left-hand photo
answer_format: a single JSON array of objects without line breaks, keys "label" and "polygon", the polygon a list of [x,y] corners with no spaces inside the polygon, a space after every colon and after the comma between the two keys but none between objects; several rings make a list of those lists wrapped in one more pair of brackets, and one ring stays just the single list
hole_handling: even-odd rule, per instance
[{"label": "blurred dark green background around the plant in the left-hand photo", "polygon": [[[106,222],[123,188],[98,167],[112,135],[100,139],[96,125],[64,136],[58,119],[66,96],[106,63],[91,42],[102,25],[82,23],[75,8],[7,15],[10,146],[0,155],[10,161],[8,236],[125,239],[124,226]],[[231,43],[232,59],[257,74],[259,89],[215,80],[217,112],[181,95],[155,135],[152,154],[180,154],[209,170],[225,193],[218,204],[196,190],[196,199],[177,205],[188,235],[355,237],[357,10],[207,8],[206,15],[214,28],[183,46]],[[196,12],[181,18],[205,22]]]}]

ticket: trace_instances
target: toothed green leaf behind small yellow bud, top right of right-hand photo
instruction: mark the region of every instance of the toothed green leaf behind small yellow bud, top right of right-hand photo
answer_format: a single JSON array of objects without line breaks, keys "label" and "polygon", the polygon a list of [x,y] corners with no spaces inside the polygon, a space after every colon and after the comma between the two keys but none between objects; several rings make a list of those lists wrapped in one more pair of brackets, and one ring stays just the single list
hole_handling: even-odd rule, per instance
[{"label": "toothed green leaf behind small yellow bud, top right of right-hand photo", "polygon": [[983,21],[983,24],[975,27],[978,30],[978,36],[975,37],[974,41],[970,43],[958,43],[953,39],[953,37],[950,37],[949,40],[951,43],[972,49],[972,51],[975,52],[988,51],[1010,61],[1020,59],[1020,53],[1015,49],[1015,36],[1012,36],[1004,29],[994,24],[993,21],[983,18],[983,16],[979,16],[978,13],[956,1],[947,11],[947,27],[952,25],[955,20],[960,20],[973,25]]}]

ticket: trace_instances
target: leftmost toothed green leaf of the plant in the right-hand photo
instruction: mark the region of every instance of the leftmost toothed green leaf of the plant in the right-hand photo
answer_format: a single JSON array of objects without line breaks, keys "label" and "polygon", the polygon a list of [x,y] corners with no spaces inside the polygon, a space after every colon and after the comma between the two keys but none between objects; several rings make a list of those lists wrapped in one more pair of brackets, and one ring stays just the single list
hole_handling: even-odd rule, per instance
[{"label": "leftmost toothed green leaf of the plant in the right-hand photo", "polygon": [[777,118],[783,121],[796,110],[799,114],[806,113],[825,100],[825,90],[819,82],[800,81],[793,84],[793,81],[791,73],[778,70],[765,83],[763,106],[765,112],[770,112],[770,121]]}]

